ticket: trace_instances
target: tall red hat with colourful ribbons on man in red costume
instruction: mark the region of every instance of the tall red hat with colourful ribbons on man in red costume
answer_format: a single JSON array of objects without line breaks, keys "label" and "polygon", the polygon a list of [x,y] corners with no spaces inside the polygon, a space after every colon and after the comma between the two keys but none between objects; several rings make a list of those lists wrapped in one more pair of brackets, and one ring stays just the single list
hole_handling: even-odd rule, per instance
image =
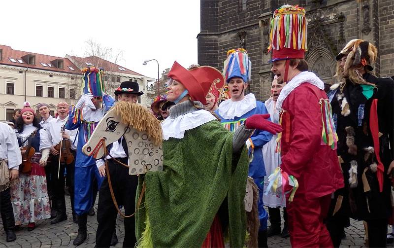
[{"label": "tall red hat with colourful ribbons on man in red costume", "polygon": [[271,19],[269,62],[283,59],[303,59],[308,50],[306,42],[305,9],[298,5],[283,5],[275,10]]}]

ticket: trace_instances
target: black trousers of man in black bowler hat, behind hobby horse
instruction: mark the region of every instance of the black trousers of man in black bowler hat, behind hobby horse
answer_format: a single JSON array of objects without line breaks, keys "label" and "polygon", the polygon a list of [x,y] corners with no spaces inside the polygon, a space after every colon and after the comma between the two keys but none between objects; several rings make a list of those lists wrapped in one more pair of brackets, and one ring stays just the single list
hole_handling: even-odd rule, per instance
[{"label": "black trousers of man in black bowler hat, behind hobby horse", "polygon": [[[120,159],[127,164],[128,159]],[[135,195],[138,185],[138,177],[129,175],[129,168],[117,164],[112,159],[108,160],[109,174],[112,188],[118,205],[125,208],[125,214],[131,215],[135,212]],[[109,247],[112,233],[115,230],[116,216],[118,212],[114,206],[109,190],[108,177],[104,178],[99,191],[99,207],[97,220],[99,226],[96,233],[96,247]],[[123,247],[134,247],[137,242],[135,238],[135,218],[127,217],[124,220],[125,239]]]}]

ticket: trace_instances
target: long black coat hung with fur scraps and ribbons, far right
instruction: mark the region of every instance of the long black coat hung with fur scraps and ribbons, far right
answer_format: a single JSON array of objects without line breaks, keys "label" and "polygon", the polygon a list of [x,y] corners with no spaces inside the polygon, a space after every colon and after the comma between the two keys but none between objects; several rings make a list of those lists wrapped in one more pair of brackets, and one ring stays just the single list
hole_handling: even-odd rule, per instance
[{"label": "long black coat hung with fur scraps and ribbons, far right", "polygon": [[[393,81],[389,78],[377,78],[372,74],[365,73],[363,78],[367,82],[376,85],[373,88],[372,95],[368,95],[366,90],[359,84],[353,84],[347,81],[342,92],[338,88],[331,101],[333,119],[336,123],[336,133],[338,135],[338,156],[341,157],[342,171],[345,181],[345,189],[342,189],[346,203],[343,208],[345,213],[349,213],[353,218],[360,220],[387,218],[391,213],[390,201],[390,180],[386,174],[390,162],[393,161]],[[364,92],[364,94],[363,94]],[[338,98],[341,96],[342,99]],[[341,114],[341,104],[343,99],[346,98],[350,106],[350,113],[347,116]],[[383,192],[379,192],[379,184],[376,172],[369,169],[370,164],[376,162],[375,154],[372,154],[364,159],[366,151],[364,148],[373,147],[373,139],[370,131],[369,116],[371,104],[374,99],[378,100],[377,113],[379,122],[379,138],[380,145],[380,158],[384,165],[384,184]],[[349,147],[346,144],[347,132],[346,127],[353,127],[355,131],[354,143],[357,146],[357,154],[350,154]],[[391,146],[389,146],[391,143]],[[357,162],[357,177],[358,186],[354,189],[349,189],[349,169],[350,162]],[[364,192],[364,184],[362,175],[365,171],[365,177],[370,187],[369,191]],[[348,203],[350,203],[348,205]]]}]

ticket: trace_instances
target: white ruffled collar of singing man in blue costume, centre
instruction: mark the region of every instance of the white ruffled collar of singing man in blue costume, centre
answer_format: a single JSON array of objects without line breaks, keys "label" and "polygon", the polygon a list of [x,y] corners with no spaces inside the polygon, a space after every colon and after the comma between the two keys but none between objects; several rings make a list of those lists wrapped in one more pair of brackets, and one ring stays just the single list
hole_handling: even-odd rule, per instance
[{"label": "white ruffled collar of singing man in blue costume, centre", "polygon": [[234,117],[240,117],[246,114],[256,106],[255,95],[250,93],[241,101],[235,102],[229,99],[221,103],[219,105],[219,115],[225,119],[234,119]]}]

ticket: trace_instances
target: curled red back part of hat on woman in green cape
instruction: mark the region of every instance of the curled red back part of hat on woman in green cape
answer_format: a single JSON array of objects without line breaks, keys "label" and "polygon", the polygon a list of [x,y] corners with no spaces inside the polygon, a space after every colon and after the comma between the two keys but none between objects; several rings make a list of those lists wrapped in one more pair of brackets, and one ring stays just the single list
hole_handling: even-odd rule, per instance
[{"label": "curled red back part of hat on woman in green cape", "polygon": [[192,73],[192,75],[201,84],[205,97],[209,92],[212,92],[216,99],[219,98],[219,90],[226,84],[226,80],[222,72],[210,66],[200,66],[191,68],[190,73]]}]

